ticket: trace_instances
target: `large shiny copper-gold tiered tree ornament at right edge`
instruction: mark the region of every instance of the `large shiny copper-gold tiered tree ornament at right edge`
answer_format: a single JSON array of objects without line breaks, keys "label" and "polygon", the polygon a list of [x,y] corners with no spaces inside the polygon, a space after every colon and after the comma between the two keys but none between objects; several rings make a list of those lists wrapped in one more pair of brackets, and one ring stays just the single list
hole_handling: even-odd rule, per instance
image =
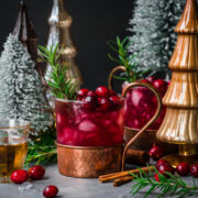
[{"label": "large shiny copper-gold tiered tree ornament at right edge", "polygon": [[163,98],[167,110],[156,134],[160,141],[179,145],[178,155],[165,157],[173,166],[179,162],[198,162],[198,11],[195,0],[187,0],[175,32],[178,40],[169,62],[172,81]]}]

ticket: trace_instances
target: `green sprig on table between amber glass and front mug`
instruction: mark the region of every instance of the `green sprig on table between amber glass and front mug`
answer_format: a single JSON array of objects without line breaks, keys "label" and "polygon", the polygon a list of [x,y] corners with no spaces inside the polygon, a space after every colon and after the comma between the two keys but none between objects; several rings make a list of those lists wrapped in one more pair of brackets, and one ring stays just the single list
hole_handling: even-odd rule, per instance
[{"label": "green sprig on table between amber glass and front mug", "polygon": [[29,143],[28,155],[25,158],[25,166],[31,163],[50,164],[56,162],[56,128],[55,124],[40,134],[34,142]]}]

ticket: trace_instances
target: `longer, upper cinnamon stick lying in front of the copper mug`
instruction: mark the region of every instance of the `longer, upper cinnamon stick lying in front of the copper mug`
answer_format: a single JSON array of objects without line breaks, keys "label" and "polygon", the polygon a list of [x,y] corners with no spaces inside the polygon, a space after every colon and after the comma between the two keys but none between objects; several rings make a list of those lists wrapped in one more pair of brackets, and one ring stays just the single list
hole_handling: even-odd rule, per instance
[{"label": "longer, upper cinnamon stick lying in front of the copper mug", "polygon": [[[150,169],[153,172],[154,170],[154,167],[153,166],[150,166],[150,167],[143,167],[141,168],[143,172],[145,173],[148,173]],[[118,173],[114,173],[114,174],[108,174],[108,175],[102,175],[102,176],[99,176],[99,182],[100,183],[107,183],[109,180],[113,180],[113,179],[117,179],[117,178],[121,178],[121,177],[125,177],[125,176],[129,176],[130,174],[129,173],[133,173],[133,174],[139,174],[140,170],[139,169],[131,169],[131,170],[125,170],[125,172],[118,172]]]}]

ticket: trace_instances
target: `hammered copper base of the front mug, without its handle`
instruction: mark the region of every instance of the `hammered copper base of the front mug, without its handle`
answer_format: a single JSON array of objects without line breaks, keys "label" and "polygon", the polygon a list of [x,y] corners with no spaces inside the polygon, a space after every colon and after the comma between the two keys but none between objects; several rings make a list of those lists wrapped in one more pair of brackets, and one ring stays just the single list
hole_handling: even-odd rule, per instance
[{"label": "hammered copper base of the front mug, without its handle", "polygon": [[121,170],[123,145],[77,147],[57,145],[59,173],[70,177],[96,178]]}]

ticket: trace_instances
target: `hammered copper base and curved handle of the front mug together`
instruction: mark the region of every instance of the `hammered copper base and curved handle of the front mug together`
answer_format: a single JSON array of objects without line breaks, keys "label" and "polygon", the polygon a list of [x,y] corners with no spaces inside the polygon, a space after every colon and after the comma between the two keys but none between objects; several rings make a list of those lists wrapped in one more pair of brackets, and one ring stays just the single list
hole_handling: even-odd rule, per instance
[{"label": "hammered copper base and curved handle of the front mug together", "polygon": [[158,118],[162,109],[162,98],[151,85],[133,82],[123,90],[123,96],[133,87],[147,87],[157,98],[157,110],[153,118],[142,128],[125,145],[114,146],[67,146],[57,145],[59,173],[70,177],[95,178],[103,174],[119,172],[124,168],[125,156],[129,147],[145,132]]}]

